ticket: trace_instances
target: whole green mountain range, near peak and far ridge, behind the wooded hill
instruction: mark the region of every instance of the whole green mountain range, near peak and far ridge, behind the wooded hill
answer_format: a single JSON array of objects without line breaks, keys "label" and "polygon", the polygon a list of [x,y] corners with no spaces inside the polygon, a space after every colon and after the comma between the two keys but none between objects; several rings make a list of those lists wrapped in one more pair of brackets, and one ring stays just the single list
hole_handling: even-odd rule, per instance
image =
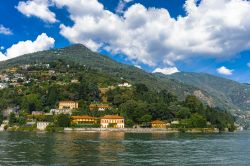
[{"label": "whole green mountain range, near peak and far ridge, behind the wooded hill", "polygon": [[122,77],[131,83],[144,83],[155,90],[166,89],[180,99],[194,94],[210,106],[234,110],[250,108],[249,85],[202,73],[177,73],[171,76],[151,74],[134,66],[118,63],[80,44],[0,62],[0,70],[22,64],[49,63],[56,60],[84,65],[114,78]]}]

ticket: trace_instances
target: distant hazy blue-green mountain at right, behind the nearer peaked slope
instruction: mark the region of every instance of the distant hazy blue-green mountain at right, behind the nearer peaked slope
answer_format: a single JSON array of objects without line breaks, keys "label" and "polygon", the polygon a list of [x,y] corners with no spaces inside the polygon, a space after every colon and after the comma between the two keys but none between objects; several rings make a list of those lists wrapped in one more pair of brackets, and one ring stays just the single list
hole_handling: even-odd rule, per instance
[{"label": "distant hazy blue-green mountain at right, behind the nearer peaked slope", "polygon": [[167,76],[167,78],[203,89],[211,96],[216,96],[219,102],[227,103],[232,108],[250,110],[249,84],[241,84],[206,73],[180,72]]}]

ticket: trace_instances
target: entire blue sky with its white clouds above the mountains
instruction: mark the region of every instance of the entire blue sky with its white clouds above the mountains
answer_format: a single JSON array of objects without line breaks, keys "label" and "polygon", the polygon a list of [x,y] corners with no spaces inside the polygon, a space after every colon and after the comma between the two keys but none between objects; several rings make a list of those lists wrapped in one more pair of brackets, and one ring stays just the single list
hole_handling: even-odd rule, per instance
[{"label": "entire blue sky with its white clouds above the mountains", "polygon": [[250,2],[1,0],[0,60],[82,43],[148,72],[250,83]]}]

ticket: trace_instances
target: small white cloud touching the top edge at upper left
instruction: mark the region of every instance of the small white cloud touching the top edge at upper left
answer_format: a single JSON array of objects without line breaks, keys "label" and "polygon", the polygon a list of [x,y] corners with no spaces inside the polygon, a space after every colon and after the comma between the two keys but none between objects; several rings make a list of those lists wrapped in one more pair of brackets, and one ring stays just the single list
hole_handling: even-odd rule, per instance
[{"label": "small white cloud touching the top edge at upper left", "polygon": [[56,15],[49,10],[49,6],[48,0],[28,0],[19,2],[16,8],[27,17],[36,16],[43,21],[55,23]]}]

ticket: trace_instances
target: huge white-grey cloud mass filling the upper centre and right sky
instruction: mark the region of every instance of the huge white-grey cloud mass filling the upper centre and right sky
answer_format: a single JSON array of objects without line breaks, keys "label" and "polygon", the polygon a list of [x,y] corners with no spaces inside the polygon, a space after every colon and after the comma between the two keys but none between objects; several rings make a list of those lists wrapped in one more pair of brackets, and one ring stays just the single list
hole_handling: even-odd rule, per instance
[{"label": "huge white-grey cloud mass filling the upper centre and right sky", "polygon": [[123,12],[122,4],[130,0],[120,1],[121,15],[106,10],[98,0],[51,1],[70,13],[74,24],[60,25],[60,33],[70,42],[124,54],[150,66],[174,66],[193,57],[230,58],[250,49],[250,1],[246,0],[201,0],[199,4],[186,0],[186,16],[177,19],[166,9],[138,3]]}]

